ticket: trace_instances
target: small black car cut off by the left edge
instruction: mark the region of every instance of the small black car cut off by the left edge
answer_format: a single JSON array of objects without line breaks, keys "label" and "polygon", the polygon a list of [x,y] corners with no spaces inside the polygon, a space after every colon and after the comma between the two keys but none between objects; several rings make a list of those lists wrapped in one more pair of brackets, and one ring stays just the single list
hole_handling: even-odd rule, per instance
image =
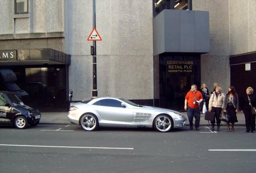
[{"label": "small black car cut off by the left edge", "polygon": [[41,113],[32,109],[12,92],[0,91],[0,124],[13,124],[18,129],[27,125],[35,126],[41,119]]}]

